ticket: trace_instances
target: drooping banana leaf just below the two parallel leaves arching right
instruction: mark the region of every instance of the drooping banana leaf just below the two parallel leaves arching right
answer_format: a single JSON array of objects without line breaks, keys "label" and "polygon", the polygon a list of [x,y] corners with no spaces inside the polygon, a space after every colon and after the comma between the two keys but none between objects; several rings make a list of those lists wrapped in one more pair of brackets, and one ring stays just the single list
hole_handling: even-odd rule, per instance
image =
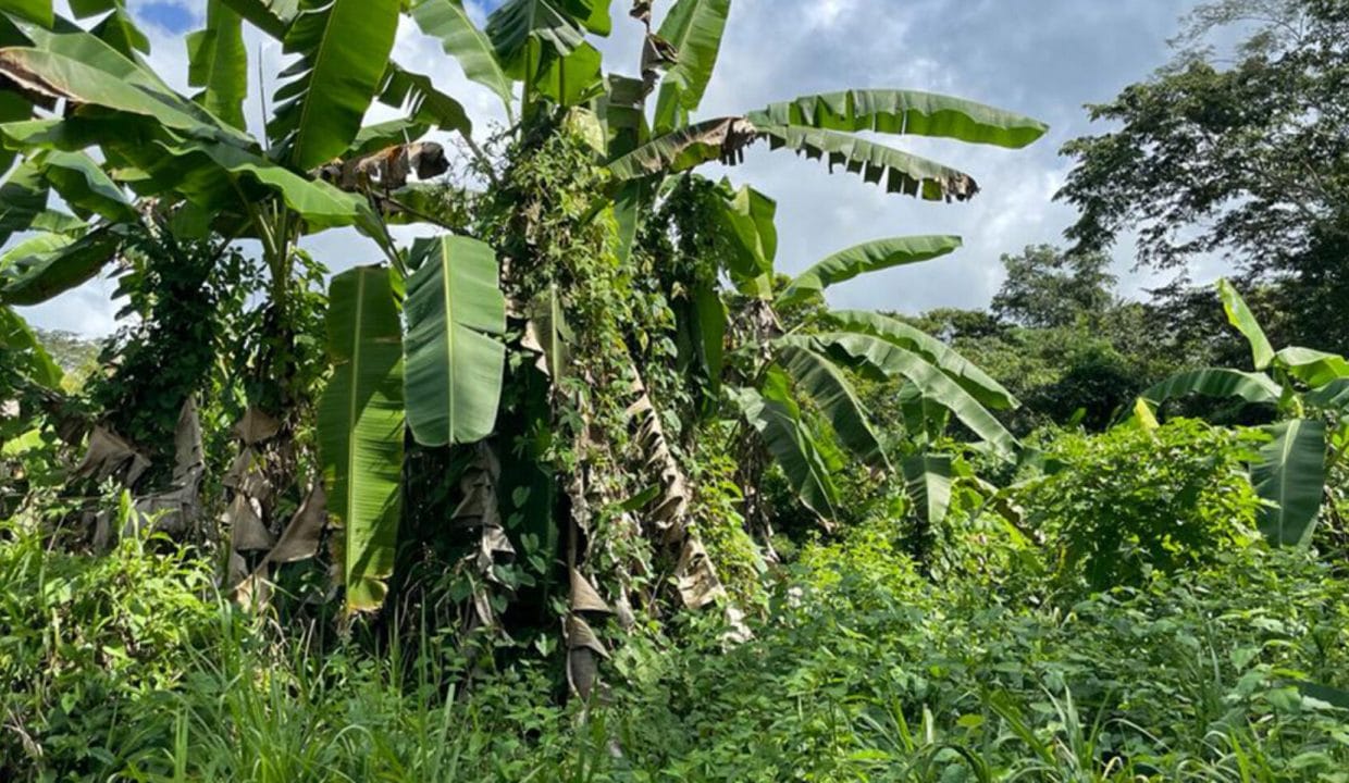
[{"label": "drooping banana leaf just below the two parallel leaves arching right", "polygon": [[834,360],[808,348],[782,345],[778,363],[792,376],[796,389],[815,400],[849,451],[873,468],[890,468],[885,447],[871,429],[870,412]]}]

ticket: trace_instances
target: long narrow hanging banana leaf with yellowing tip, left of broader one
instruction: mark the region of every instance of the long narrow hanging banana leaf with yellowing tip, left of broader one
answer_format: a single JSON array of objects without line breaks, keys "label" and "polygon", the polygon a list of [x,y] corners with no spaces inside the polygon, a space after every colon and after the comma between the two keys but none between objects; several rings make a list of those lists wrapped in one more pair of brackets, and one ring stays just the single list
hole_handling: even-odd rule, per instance
[{"label": "long narrow hanging banana leaf with yellowing tip, left of broader one", "polygon": [[398,546],[403,470],[402,325],[389,270],[357,267],[332,280],[332,379],[318,400],[318,454],[328,512],[341,526],[347,610],[378,609]]}]

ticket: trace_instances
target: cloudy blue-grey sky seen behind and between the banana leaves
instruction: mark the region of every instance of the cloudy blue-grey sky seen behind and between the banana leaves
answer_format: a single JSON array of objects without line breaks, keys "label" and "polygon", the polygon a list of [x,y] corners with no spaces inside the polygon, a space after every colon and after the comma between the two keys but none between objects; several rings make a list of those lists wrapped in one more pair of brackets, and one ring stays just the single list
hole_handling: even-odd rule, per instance
[{"label": "cloudy blue-grey sky seen behind and between the banana leaves", "polygon": [[[476,7],[484,12],[487,0]],[[479,3],[479,0],[469,0]],[[657,18],[669,0],[657,3]],[[1195,0],[734,0],[716,75],[701,116],[741,113],[799,94],[844,88],[907,88],[950,93],[1035,116],[1051,131],[1035,146],[1008,151],[936,140],[894,146],[971,173],[982,193],[967,203],[925,203],[885,194],[820,162],[753,150],[727,171],[778,202],[778,267],[800,271],[836,249],[870,239],[956,233],[966,247],[928,264],[890,270],[830,291],[844,307],[920,311],[982,307],[997,291],[998,256],[1028,244],[1059,243],[1072,209],[1054,202],[1070,168],[1064,142],[1103,128],[1083,104],[1106,101],[1168,59],[1166,40]],[[59,5],[59,4],[58,4]],[[151,62],[185,88],[182,34],[202,23],[205,0],[128,0],[152,43]],[[639,26],[615,7],[614,36],[600,47],[606,66],[635,73]],[[281,66],[279,44],[250,36],[263,70]],[[499,102],[467,82],[438,46],[405,24],[395,55],[460,97],[479,127],[500,117]],[[256,75],[254,75],[256,78]],[[268,86],[268,90],[271,86]],[[250,101],[258,124],[256,102]],[[387,119],[379,109],[372,117]],[[715,173],[708,173],[715,174]],[[337,232],[309,240],[332,270],[379,259],[364,240]],[[1128,244],[1116,249],[1125,292],[1148,280],[1130,271]],[[1206,272],[1209,272],[1206,275]],[[1218,270],[1198,270],[1203,280]],[[105,334],[115,329],[113,284],[94,280],[24,315],[47,329]]]}]

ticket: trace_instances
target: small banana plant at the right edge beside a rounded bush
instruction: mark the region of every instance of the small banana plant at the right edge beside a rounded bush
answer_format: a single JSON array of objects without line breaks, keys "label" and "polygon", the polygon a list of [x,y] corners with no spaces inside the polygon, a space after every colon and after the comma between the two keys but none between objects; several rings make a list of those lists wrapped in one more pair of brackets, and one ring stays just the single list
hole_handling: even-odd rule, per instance
[{"label": "small banana plant at the right edge beside a rounded bush", "polygon": [[1253,372],[1182,372],[1143,392],[1136,411],[1140,420],[1155,422],[1168,400],[1188,395],[1276,410],[1280,420],[1265,427],[1271,439],[1251,466],[1267,501],[1260,532],[1272,544],[1304,547],[1315,532],[1326,476],[1349,446],[1349,361],[1309,348],[1275,350],[1232,283],[1218,280],[1217,287],[1228,321],[1251,345]]}]

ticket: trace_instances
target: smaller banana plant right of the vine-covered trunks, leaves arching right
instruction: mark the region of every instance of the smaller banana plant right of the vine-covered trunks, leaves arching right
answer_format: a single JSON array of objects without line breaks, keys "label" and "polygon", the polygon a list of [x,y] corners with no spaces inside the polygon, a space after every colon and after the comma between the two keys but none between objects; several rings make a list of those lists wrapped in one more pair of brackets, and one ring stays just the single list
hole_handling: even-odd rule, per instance
[{"label": "smaller banana plant right of the vine-covered trunks, leaves arching right", "polygon": [[[720,194],[727,214],[739,216],[727,225],[730,244],[739,252],[727,256],[724,270],[746,301],[735,319],[751,325],[739,346],[742,356],[751,357],[751,368],[739,375],[751,383],[730,387],[728,396],[807,508],[826,522],[836,519],[839,491],[832,476],[843,468],[839,454],[850,454],[877,472],[890,472],[898,462],[915,496],[921,491],[924,497],[935,499],[942,495],[940,485],[950,484],[948,470],[943,476],[948,462],[936,456],[896,460],[889,453],[855,388],[854,373],[898,381],[925,400],[931,414],[954,415],[994,453],[1005,458],[1016,453],[1016,439],[989,410],[1013,408],[1016,399],[932,336],[878,313],[851,310],[823,310],[796,329],[781,326],[780,313],[817,302],[830,286],[939,259],[960,247],[959,237],[873,240],[832,253],[782,283],[773,271],[777,243],[772,201],[749,189],[733,193],[726,185]],[[746,213],[754,213],[753,218]],[[720,301],[696,305],[711,311],[697,317],[704,330],[723,332],[722,326],[706,327],[710,321],[727,318]],[[708,372],[719,376],[723,368]],[[934,488],[931,493],[928,487]],[[939,522],[944,504],[936,503],[935,508],[932,520]]]}]

